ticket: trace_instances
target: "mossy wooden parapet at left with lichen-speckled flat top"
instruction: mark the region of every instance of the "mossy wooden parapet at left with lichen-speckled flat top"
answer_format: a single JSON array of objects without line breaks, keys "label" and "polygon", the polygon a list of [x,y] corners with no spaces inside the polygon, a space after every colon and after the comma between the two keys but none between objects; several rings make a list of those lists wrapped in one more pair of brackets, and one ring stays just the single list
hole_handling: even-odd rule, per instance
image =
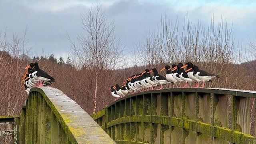
[{"label": "mossy wooden parapet at left with lichen-speckled flat top", "polygon": [[76,102],[56,88],[32,88],[17,120],[19,144],[114,144]]}]

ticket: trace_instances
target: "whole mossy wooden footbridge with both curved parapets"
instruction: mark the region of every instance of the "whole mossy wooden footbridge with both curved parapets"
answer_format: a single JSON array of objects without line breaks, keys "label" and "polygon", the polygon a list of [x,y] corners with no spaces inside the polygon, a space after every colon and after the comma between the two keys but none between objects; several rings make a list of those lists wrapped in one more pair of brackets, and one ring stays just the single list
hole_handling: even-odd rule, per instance
[{"label": "whole mossy wooden footbridge with both curved parapets", "polygon": [[249,90],[152,90],[90,116],[56,88],[33,88],[20,116],[0,117],[13,128],[0,136],[15,144],[256,144],[255,98]]}]

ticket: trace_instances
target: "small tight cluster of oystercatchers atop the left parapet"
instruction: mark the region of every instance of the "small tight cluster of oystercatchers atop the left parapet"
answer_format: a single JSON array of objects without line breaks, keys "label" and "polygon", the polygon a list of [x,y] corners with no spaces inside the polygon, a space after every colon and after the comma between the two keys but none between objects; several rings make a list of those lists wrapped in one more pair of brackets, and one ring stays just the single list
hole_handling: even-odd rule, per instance
[{"label": "small tight cluster of oystercatchers atop the left parapet", "polygon": [[52,82],[55,82],[54,78],[39,68],[37,62],[30,63],[25,69],[28,71],[22,78],[22,82],[24,82],[22,88],[24,87],[26,89],[27,94],[31,88],[50,86]]}]

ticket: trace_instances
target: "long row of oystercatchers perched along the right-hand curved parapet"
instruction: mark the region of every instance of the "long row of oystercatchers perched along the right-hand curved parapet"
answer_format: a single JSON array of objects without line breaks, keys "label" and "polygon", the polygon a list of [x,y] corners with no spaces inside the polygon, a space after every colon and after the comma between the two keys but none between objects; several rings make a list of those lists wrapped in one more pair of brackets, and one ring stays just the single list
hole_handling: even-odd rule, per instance
[{"label": "long row of oystercatchers perched along the right-hand curved parapet", "polygon": [[[201,88],[204,88],[206,81],[212,82],[212,78],[220,78],[218,75],[200,70],[198,66],[193,65],[191,62],[187,62],[185,65],[182,63],[178,63],[178,65],[172,64],[172,67],[166,65],[160,72],[163,70],[166,70],[165,77],[158,74],[156,68],[152,70],[146,69],[140,74],[132,75],[123,83],[125,84],[124,86],[120,87],[118,84],[111,86],[111,94],[115,98],[120,98],[128,93],[153,90],[156,86],[160,86],[160,89],[162,89],[163,84],[174,84],[176,82],[179,82],[179,85],[180,82],[185,82],[183,88],[188,88],[189,82],[194,82],[193,87],[199,88],[199,84],[202,82]],[[151,76],[152,72],[153,76]]]}]

